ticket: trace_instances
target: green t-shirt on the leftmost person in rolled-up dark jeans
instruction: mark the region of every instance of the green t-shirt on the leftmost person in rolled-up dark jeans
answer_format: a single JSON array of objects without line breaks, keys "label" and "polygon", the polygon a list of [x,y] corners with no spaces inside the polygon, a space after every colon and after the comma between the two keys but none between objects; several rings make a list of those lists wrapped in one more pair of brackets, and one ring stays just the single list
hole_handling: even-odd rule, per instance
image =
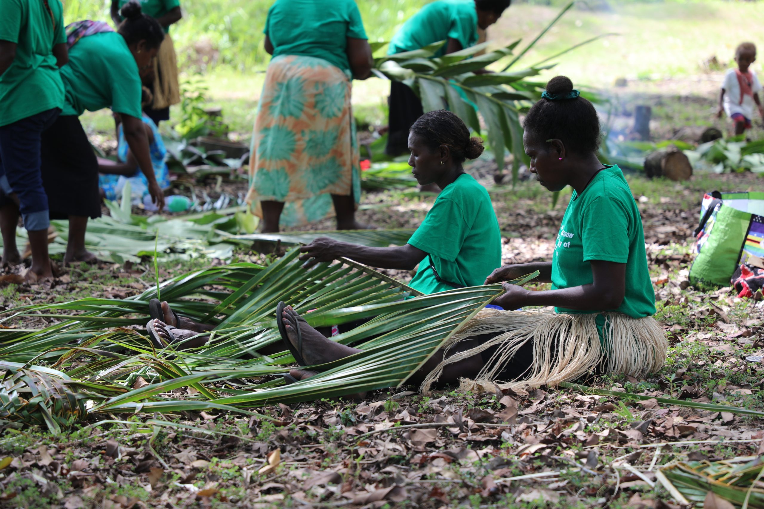
[{"label": "green t-shirt on the leftmost person in rolled-up dark jeans", "polygon": [[[0,0],[0,40],[16,43],[16,58],[0,76],[0,126],[63,107],[63,83],[53,46],[66,43],[59,0]],[[50,12],[53,12],[51,17]]]}]

